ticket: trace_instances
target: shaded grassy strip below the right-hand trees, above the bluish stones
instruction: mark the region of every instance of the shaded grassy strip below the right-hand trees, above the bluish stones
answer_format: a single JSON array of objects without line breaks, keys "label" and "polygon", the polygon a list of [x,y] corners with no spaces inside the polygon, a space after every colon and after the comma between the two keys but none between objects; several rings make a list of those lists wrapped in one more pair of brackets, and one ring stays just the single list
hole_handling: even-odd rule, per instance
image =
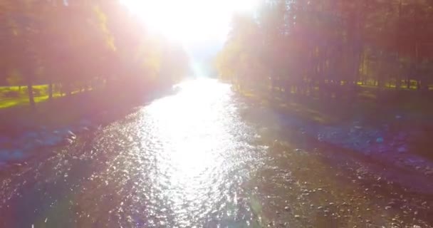
[{"label": "shaded grassy strip below the right-hand trees, above the bluish stones", "polygon": [[318,88],[301,94],[267,87],[243,88],[241,93],[321,124],[353,119],[365,120],[372,125],[396,121],[406,126],[433,124],[433,93],[430,91],[422,94],[414,90],[360,87],[355,95],[348,97],[338,93],[323,96]]}]

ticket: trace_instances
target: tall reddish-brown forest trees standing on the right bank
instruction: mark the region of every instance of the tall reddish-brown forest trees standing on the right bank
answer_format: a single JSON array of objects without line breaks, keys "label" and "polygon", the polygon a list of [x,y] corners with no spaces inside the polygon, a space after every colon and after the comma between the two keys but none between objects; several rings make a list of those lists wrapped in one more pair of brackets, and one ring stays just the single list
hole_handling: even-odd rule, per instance
[{"label": "tall reddish-brown forest trees standing on the right bank", "polygon": [[431,100],[433,1],[264,1],[234,17],[216,68],[245,90]]}]

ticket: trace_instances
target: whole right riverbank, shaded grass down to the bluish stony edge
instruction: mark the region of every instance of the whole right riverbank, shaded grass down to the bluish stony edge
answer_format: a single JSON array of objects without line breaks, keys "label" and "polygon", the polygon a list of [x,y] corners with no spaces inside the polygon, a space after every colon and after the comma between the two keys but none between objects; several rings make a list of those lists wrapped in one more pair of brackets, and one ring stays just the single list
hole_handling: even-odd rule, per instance
[{"label": "whole right riverbank, shaded grass down to the bluish stony edge", "polygon": [[[433,177],[432,120],[417,110],[384,108],[371,103],[345,102],[284,96],[283,93],[241,93],[257,108],[275,110],[262,113],[278,120],[281,128],[296,129],[311,140],[333,145],[369,160],[407,172]],[[246,113],[246,115],[249,115]],[[262,118],[263,119],[263,118]]]}]

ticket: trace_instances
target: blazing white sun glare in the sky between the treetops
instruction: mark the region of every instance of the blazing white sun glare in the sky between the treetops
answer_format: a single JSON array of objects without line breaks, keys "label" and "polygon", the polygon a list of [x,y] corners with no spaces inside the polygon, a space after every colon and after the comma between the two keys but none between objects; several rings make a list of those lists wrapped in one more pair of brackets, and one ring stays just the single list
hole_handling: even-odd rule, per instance
[{"label": "blazing white sun glare in the sky between the treetops", "polygon": [[231,16],[252,12],[260,0],[120,0],[152,31],[192,45],[225,40]]}]

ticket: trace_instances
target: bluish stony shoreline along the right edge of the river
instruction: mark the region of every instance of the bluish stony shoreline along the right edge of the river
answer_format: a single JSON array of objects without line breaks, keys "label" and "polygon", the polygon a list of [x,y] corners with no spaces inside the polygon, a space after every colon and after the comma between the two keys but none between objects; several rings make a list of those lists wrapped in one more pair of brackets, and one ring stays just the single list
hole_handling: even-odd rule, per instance
[{"label": "bluish stony shoreline along the right edge of the river", "polygon": [[[261,100],[260,95],[236,93],[253,103],[257,110],[253,114],[245,115],[252,117],[253,123],[259,120],[270,121],[265,125],[274,125],[280,132],[278,138],[281,140],[298,135],[297,142],[307,150],[328,148],[327,150],[333,151],[333,154],[374,166],[377,172],[386,173],[397,182],[401,177],[405,179],[401,181],[405,182],[403,185],[407,187],[411,187],[408,184],[411,182],[433,180],[433,160],[414,152],[416,146],[412,145],[412,138],[425,135],[418,126],[407,128],[405,123],[401,123],[399,128],[394,128],[393,121],[404,121],[404,117],[400,115],[392,115],[395,120],[379,125],[357,117],[333,123],[320,123],[299,115],[296,111],[281,108],[274,103],[266,103]],[[306,106],[308,108],[308,105]],[[411,178],[414,180],[410,180]],[[417,185],[419,186],[421,185]]]}]

